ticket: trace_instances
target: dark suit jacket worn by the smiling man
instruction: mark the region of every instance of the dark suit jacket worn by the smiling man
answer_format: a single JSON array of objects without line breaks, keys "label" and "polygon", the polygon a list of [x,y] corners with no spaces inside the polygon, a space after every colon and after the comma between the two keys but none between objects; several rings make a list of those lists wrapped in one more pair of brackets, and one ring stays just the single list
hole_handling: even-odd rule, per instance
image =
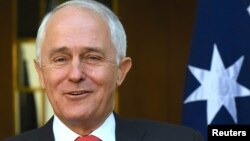
[{"label": "dark suit jacket worn by the smiling man", "polygon": [[[115,114],[116,141],[203,141],[190,128],[148,120],[127,120]],[[53,118],[43,127],[4,141],[54,141]]]}]

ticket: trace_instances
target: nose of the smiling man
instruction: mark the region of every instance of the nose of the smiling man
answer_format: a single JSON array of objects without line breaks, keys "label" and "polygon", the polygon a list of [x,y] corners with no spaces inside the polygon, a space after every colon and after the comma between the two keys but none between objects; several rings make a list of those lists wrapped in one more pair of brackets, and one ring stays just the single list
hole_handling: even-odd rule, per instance
[{"label": "nose of the smiling man", "polygon": [[79,60],[73,60],[69,72],[69,80],[78,83],[85,79],[83,66]]}]

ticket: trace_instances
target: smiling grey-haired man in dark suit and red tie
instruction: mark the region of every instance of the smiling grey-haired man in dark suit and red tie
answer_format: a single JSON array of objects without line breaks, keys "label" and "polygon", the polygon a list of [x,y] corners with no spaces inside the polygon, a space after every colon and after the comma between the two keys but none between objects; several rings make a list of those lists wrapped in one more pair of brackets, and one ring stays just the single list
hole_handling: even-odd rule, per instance
[{"label": "smiling grey-haired man in dark suit and red tie", "polygon": [[9,141],[201,141],[192,129],[125,120],[113,113],[115,89],[131,68],[118,18],[93,0],[50,12],[37,35],[35,67],[55,116]]}]

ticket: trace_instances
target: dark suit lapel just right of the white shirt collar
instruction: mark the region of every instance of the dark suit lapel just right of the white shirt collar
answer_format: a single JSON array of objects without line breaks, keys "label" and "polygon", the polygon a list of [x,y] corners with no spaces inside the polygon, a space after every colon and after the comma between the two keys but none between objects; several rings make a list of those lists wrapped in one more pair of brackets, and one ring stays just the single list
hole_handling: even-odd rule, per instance
[{"label": "dark suit lapel just right of the white shirt collar", "polygon": [[135,123],[120,118],[115,114],[116,141],[141,141],[145,135],[144,131],[138,129]]}]

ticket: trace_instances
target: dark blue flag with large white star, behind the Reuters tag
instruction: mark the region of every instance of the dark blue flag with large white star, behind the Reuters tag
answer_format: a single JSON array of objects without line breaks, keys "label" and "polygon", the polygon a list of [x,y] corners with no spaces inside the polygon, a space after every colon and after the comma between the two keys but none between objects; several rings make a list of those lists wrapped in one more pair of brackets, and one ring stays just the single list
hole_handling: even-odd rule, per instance
[{"label": "dark blue flag with large white star, behind the Reuters tag", "polygon": [[250,0],[197,0],[182,123],[250,124]]}]

